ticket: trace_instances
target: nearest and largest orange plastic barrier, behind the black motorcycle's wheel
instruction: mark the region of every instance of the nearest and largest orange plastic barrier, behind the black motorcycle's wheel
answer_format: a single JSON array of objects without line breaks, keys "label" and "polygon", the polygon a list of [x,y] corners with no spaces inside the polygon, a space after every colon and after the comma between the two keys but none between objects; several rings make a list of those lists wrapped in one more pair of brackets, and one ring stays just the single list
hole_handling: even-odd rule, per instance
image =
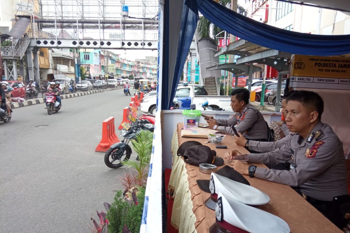
[{"label": "nearest and largest orange plastic barrier, behind the black motorcycle's wheel", "polygon": [[102,139],[95,151],[106,152],[111,145],[119,142],[120,140],[116,134],[116,126],[114,125],[114,117],[109,117],[102,122]]}]

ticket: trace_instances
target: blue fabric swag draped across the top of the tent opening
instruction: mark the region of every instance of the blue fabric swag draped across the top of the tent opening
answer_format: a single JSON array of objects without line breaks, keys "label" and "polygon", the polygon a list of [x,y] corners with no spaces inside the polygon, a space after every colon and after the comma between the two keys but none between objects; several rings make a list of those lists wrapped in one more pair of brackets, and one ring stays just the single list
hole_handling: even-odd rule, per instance
[{"label": "blue fabric swag draped across the top of the tent opening", "polygon": [[350,35],[313,35],[288,31],[252,20],[213,0],[197,0],[212,23],[249,42],[293,54],[330,56],[350,53]]}]

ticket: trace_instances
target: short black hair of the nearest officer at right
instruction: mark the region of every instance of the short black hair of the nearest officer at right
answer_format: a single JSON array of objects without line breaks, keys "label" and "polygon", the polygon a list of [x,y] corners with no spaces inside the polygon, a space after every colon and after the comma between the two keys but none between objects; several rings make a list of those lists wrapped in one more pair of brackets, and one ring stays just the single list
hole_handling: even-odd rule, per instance
[{"label": "short black hair of the nearest officer at right", "polygon": [[290,92],[287,97],[287,102],[290,100],[298,101],[306,108],[316,110],[318,112],[318,119],[321,120],[321,116],[324,110],[324,102],[322,97],[316,92],[310,92],[308,90],[294,90]]}]

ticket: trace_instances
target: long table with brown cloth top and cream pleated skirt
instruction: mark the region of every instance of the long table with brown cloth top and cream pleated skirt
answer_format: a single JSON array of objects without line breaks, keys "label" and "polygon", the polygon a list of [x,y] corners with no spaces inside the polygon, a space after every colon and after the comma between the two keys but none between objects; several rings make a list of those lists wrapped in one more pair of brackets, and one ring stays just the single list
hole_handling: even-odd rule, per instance
[{"label": "long table with brown cloth top and cream pleated skirt", "polygon": [[[222,143],[228,148],[217,149],[214,144],[204,144],[208,139],[181,137],[182,128],[183,123],[178,123],[171,147],[173,165],[168,189],[169,196],[174,198],[171,223],[179,230],[179,233],[207,233],[209,227],[215,223],[215,211],[204,205],[204,201],[210,197],[210,194],[202,191],[196,180],[209,180],[210,174],[201,173],[197,166],[184,162],[182,156],[177,156],[177,149],[184,141],[195,140],[209,146],[217,152],[217,156],[222,158],[224,153],[230,150],[236,149],[242,154],[246,154],[248,151],[242,146],[237,146],[235,138],[231,135],[226,135]],[[225,165],[230,164],[225,161],[223,166]],[[263,164],[255,165],[266,168]],[[221,167],[218,167],[218,169]],[[244,177],[250,182],[251,186],[265,192],[270,197],[269,203],[259,205],[257,208],[285,220],[290,227],[290,232],[342,232],[288,185],[250,178],[246,175]],[[254,216],[251,217],[254,218]]]}]

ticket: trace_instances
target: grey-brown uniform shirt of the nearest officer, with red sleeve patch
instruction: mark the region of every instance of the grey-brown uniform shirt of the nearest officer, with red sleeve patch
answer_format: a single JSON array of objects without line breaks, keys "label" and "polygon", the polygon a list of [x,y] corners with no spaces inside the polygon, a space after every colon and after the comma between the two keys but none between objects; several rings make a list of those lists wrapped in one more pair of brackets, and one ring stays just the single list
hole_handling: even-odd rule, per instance
[{"label": "grey-brown uniform shirt of the nearest officer, with red sleeve patch", "polygon": [[292,158],[295,168],[274,170],[257,168],[255,177],[299,186],[309,197],[332,201],[348,194],[343,144],[328,124],[319,122],[307,139],[294,134],[280,149],[263,154],[248,154],[249,162],[278,163]]}]

